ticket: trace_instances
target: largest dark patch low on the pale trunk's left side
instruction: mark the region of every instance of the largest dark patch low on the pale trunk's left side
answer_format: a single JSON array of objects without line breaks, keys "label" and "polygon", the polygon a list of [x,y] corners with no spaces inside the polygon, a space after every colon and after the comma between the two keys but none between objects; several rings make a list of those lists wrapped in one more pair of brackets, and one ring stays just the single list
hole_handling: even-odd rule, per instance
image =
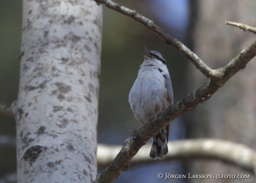
[{"label": "largest dark patch low on the pale trunk's left side", "polygon": [[42,153],[42,151],[47,148],[40,145],[32,146],[26,150],[26,153],[23,155],[25,161],[29,161],[29,164],[32,165],[36,161],[37,157]]}]

